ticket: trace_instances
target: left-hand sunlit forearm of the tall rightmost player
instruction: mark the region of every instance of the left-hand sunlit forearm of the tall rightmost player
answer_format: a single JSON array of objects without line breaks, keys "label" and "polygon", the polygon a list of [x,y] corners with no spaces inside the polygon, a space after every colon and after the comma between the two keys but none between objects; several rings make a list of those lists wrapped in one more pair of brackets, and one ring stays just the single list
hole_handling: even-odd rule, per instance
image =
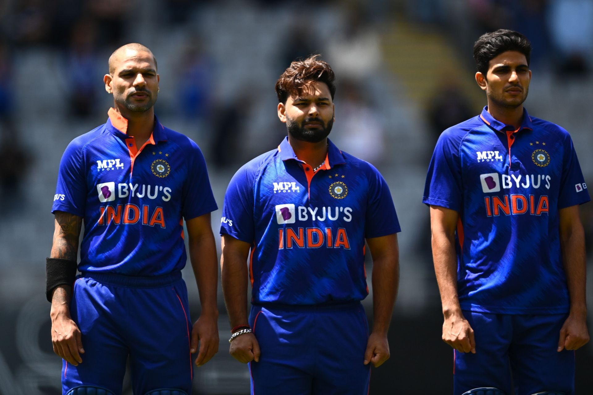
[{"label": "left-hand sunlit forearm of the tall rightmost player", "polygon": [[435,265],[436,282],[441,293],[443,315],[461,314],[457,294],[457,254],[453,235],[433,232],[432,258]]}]

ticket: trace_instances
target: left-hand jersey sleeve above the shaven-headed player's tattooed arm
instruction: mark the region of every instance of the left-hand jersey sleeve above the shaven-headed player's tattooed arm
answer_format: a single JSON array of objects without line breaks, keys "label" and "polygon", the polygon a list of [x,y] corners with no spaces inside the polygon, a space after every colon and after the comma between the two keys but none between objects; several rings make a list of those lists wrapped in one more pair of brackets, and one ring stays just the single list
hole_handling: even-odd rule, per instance
[{"label": "left-hand jersey sleeve above the shaven-headed player's tattooed arm", "polygon": [[58,185],[53,196],[52,213],[65,211],[84,217],[87,203],[87,181],[85,176],[82,144],[73,140],[62,155],[58,171]]}]

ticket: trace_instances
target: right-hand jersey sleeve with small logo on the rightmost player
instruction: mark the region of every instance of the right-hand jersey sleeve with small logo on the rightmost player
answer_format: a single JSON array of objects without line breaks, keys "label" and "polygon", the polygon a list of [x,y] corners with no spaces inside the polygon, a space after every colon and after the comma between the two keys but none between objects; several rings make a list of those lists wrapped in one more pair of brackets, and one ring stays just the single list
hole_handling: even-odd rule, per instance
[{"label": "right-hand jersey sleeve with small logo on the rightmost player", "polygon": [[560,194],[558,197],[558,208],[566,208],[571,205],[583,204],[591,200],[585,178],[576,157],[575,147],[572,139],[567,133],[564,144],[564,155],[562,163],[562,179],[560,181]]}]

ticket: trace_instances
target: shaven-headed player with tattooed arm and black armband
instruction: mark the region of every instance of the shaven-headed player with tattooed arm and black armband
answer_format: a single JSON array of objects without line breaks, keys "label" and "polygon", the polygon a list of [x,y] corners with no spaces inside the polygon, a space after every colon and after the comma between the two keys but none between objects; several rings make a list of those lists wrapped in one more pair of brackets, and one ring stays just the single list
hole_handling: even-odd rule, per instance
[{"label": "shaven-headed player with tattooed arm and black armband", "polygon": [[[63,394],[121,394],[128,357],[136,395],[189,394],[198,341],[197,365],[218,351],[216,203],[199,147],[154,115],[159,79],[151,50],[117,49],[104,76],[107,123],[72,140],[60,162],[47,299]],[[193,329],[183,219],[202,305]]]}]

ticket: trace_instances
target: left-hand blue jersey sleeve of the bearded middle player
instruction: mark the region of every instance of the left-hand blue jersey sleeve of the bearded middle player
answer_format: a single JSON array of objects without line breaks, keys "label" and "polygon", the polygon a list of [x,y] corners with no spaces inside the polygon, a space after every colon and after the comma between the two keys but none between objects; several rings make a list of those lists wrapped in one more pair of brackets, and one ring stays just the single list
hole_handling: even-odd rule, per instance
[{"label": "left-hand blue jersey sleeve of the bearded middle player", "polygon": [[253,171],[247,165],[240,168],[228,184],[222,205],[220,234],[253,243],[255,223],[253,220]]}]

